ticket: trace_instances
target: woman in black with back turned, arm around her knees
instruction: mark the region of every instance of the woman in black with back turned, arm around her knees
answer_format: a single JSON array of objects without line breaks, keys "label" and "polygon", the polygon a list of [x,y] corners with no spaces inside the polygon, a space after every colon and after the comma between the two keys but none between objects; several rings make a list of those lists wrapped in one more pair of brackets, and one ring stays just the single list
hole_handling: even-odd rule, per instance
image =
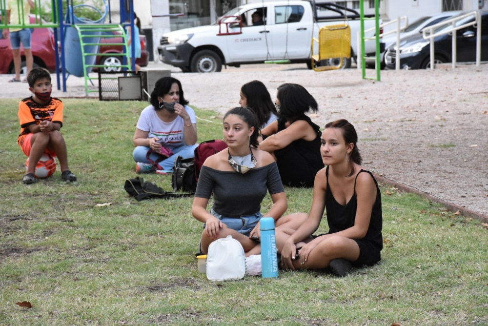
[{"label": "woman in black with back turned, arm around her knees", "polygon": [[318,111],[317,102],[299,84],[281,85],[276,97],[280,118],[261,131],[259,148],[276,159],[283,184],[311,188],[315,174],[324,167],[320,157],[322,133],[305,115]]}]

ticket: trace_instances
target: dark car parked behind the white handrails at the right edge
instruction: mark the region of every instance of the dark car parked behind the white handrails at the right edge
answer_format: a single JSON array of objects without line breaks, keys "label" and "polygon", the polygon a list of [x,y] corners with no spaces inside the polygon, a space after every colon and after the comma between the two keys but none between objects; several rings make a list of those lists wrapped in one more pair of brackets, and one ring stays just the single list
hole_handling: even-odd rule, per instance
[{"label": "dark car parked behind the white handrails at the right edge", "polygon": [[[461,14],[463,15],[463,14]],[[483,12],[481,20],[481,60],[488,61],[488,12]],[[452,17],[454,18],[454,17]],[[468,17],[456,22],[457,26],[473,21]],[[442,26],[434,33],[449,29],[452,25]],[[456,31],[457,59],[456,62],[476,61],[476,26],[468,26]],[[452,62],[452,33],[434,38],[435,64]],[[388,48],[385,55],[386,67],[395,69],[396,45]],[[400,41],[400,68],[402,69],[429,69],[430,68],[430,41],[422,35],[414,35]]]}]

